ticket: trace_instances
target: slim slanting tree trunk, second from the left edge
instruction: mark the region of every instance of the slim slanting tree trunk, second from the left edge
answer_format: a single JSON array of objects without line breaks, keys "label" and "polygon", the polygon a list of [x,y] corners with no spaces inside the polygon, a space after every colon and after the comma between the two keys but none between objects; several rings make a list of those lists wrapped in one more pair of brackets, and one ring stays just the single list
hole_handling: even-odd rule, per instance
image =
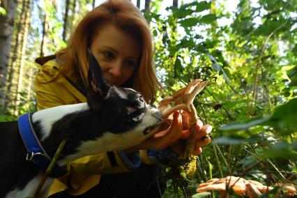
[{"label": "slim slanting tree trunk, second from the left edge", "polygon": [[8,102],[11,101],[11,99],[13,98],[11,93],[12,92],[12,86],[13,86],[13,75],[15,73],[15,68],[17,68],[17,66],[19,64],[17,64],[17,62],[20,60],[20,46],[21,46],[21,40],[22,40],[22,36],[23,36],[23,31],[22,29],[24,29],[24,23],[26,20],[26,3],[27,1],[23,1],[22,2],[22,11],[20,14],[20,20],[17,24],[17,31],[16,32],[16,36],[15,36],[15,45],[13,47],[13,53],[10,59],[10,66],[9,66],[9,72],[8,72],[8,81],[7,81],[7,93],[10,94],[6,94],[4,96],[4,103],[3,103],[3,112],[7,113],[7,107],[8,107]]}]

